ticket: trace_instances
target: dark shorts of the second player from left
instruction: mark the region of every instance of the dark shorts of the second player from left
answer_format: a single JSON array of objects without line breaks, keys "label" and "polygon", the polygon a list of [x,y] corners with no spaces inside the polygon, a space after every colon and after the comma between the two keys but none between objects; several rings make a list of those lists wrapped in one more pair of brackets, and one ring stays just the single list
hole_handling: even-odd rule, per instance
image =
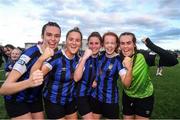
[{"label": "dark shorts of the second player from left", "polygon": [[61,105],[52,103],[51,101],[44,98],[44,105],[48,119],[60,119],[77,111],[77,105],[75,101]]}]

